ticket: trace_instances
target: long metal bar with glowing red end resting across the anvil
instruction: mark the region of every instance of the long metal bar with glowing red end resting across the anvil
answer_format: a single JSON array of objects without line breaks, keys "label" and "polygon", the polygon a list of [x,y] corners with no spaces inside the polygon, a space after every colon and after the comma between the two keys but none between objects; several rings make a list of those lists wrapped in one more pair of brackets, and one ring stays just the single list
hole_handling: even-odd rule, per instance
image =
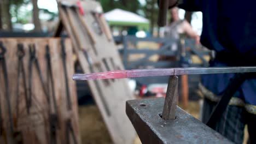
[{"label": "long metal bar with glowing red end resting across the anvil", "polygon": [[73,80],[124,79],[132,77],[167,76],[167,75],[199,75],[221,73],[253,73],[256,67],[210,67],[210,68],[164,68],[114,70],[103,73],[74,74]]}]

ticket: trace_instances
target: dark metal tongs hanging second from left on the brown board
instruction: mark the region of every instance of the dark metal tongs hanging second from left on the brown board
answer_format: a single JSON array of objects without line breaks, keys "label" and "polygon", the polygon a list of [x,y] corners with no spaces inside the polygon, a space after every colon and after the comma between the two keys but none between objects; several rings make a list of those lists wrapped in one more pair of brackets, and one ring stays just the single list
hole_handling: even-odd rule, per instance
[{"label": "dark metal tongs hanging second from left on the brown board", "polygon": [[17,77],[16,117],[18,117],[19,115],[20,77],[21,76],[22,76],[22,83],[24,85],[27,113],[30,113],[30,106],[31,106],[31,103],[29,103],[28,101],[26,74],[25,74],[24,61],[23,61],[23,58],[25,56],[25,50],[24,50],[23,44],[18,44],[17,56],[18,56],[18,77]]}]

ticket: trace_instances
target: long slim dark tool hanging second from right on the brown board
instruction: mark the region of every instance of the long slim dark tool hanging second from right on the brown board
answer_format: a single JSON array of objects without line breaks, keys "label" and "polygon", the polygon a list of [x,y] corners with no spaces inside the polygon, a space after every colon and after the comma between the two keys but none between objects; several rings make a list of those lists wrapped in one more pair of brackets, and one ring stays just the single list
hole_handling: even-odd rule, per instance
[{"label": "long slim dark tool hanging second from right on the brown board", "polygon": [[[49,45],[45,46],[45,58],[47,65],[47,85],[48,85],[48,94],[49,94],[49,123],[50,123],[50,143],[57,143],[56,140],[56,132],[57,129],[60,128],[59,125],[59,117],[57,112],[57,103],[55,98],[55,88],[54,88],[54,77],[53,71],[51,69],[51,55]],[[51,97],[50,97],[51,92]],[[52,105],[53,104],[53,109]]]}]

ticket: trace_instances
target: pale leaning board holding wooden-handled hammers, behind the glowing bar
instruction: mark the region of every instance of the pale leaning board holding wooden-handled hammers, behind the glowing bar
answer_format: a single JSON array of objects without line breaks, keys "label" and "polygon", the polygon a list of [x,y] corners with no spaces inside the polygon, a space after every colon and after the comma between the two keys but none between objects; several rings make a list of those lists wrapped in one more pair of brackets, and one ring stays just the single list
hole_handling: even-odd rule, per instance
[{"label": "pale leaning board holding wooden-handled hammers, behind the glowing bar", "polygon": [[[58,1],[60,24],[56,36],[65,29],[84,73],[124,69],[100,3]],[[125,115],[125,101],[135,99],[127,80],[88,81],[114,143],[132,143],[136,137]]]}]

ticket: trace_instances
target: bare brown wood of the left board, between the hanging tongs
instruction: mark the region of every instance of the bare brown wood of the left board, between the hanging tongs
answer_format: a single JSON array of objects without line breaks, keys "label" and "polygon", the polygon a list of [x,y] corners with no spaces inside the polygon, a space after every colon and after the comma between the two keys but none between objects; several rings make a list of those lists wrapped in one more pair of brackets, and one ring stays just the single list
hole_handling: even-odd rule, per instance
[{"label": "bare brown wood of the left board, between the hanging tongs", "polygon": [[[49,114],[48,110],[52,105],[49,106],[48,101],[46,100],[45,93],[43,92],[43,87],[39,81],[39,76],[36,70],[36,67],[33,65],[32,68],[32,87],[28,87],[29,81],[29,71],[28,63],[30,58],[30,53],[28,49],[29,44],[36,45],[36,56],[38,57],[38,62],[42,75],[44,78],[44,85],[46,83],[46,59],[45,59],[45,46],[49,45],[50,55],[51,55],[51,69],[53,71],[54,79],[54,88],[55,88],[55,98],[57,100],[57,113],[59,116],[60,128],[57,129],[57,143],[65,143],[65,121],[68,118],[71,118],[75,139],[79,141],[79,129],[78,129],[78,109],[77,109],[77,93],[75,90],[74,81],[72,81],[72,74],[74,73],[74,61],[72,59],[72,45],[69,39],[65,40],[66,51],[67,51],[67,71],[68,71],[68,85],[70,88],[70,95],[72,99],[72,110],[68,111],[66,108],[66,87],[65,87],[65,78],[63,72],[63,64],[61,59],[61,44],[60,39],[57,38],[3,38],[0,39],[3,41],[5,47],[7,47],[7,53],[5,58],[7,61],[7,70],[8,70],[8,80],[9,80],[9,98],[11,101],[11,113],[13,116],[14,131],[19,131],[22,136],[24,143],[49,143],[50,139],[50,123],[49,123]],[[25,49],[24,57],[24,68],[26,75],[27,87],[24,87],[22,83],[23,77],[20,77],[19,83],[19,93],[20,97],[17,100],[17,77],[18,77],[18,57],[16,52],[18,50],[17,45],[23,44]],[[4,131],[5,135],[0,136],[1,143],[11,143],[11,140],[14,139],[12,134],[9,131],[9,121],[8,121],[8,111],[6,105],[6,99],[4,97],[5,89],[3,83],[2,69],[0,69],[0,101],[2,108],[2,117],[4,121]],[[32,89],[32,106],[30,108],[30,113],[26,111],[26,100],[25,100],[25,88],[28,90]],[[52,95],[50,94],[52,97]],[[17,103],[18,102],[18,103]],[[19,109],[16,109],[19,107]],[[18,110],[18,112],[17,112]],[[17,114],[18,113],[18,114]],[[71,141],[72,143],[72,141]]]}]

